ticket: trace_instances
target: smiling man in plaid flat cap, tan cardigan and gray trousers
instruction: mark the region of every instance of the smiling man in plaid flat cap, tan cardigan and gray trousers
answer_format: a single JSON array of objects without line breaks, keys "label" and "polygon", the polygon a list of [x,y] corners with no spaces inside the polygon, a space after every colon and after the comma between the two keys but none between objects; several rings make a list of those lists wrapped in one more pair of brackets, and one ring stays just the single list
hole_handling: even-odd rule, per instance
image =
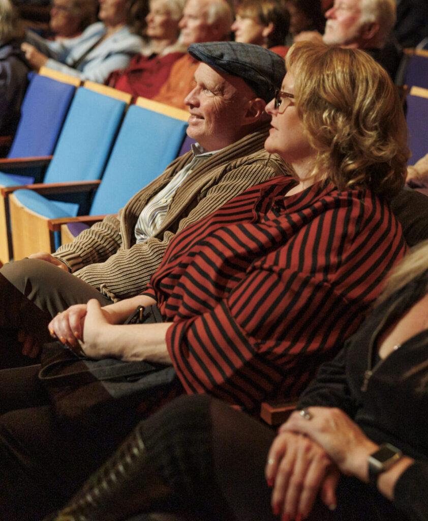
[{"label": "smiling man in plaid flat cap, tan cardigan and gray trousers", "polygon": [[[200,61],[185,98],[193,150],[118,217],[107,216],[53,255],[36,253],[1,269],[0,367],[28,365],[20,351],[36,356],[49,339],[48,322],[70,305],[95,298],[104,306],[140,293],[175,233],[287,171],[279,156],[263,149],[270,119],[265,105],[281,86],[284,60],[237,42],[192,44],[189,52]],[[18,345],[10,340],[17,331]]]}]

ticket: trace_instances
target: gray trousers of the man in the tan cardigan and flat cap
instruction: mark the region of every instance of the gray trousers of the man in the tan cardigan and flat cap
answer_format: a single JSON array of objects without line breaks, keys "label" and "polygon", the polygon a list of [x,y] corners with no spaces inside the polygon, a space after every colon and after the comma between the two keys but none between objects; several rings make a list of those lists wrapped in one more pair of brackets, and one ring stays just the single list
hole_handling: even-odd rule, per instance
[{"label": "gray trousers of the man in the tan cardigan and flat cap", "polygon": [[73,304],[96,299],[112,301],[78,277],[39,259],[22,259],[0,269],[0,368],[29,365],[23,357],[17,331],[31,333],[40,342],[52,341],[47,325]]}]

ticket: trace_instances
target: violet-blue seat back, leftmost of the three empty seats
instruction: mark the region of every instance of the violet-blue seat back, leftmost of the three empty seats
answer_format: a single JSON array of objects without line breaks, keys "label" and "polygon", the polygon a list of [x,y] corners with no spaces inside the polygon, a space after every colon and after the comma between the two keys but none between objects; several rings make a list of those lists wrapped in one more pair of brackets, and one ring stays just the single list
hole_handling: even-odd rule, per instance
[{"label": "violet-blue seat back, leftmost of the three empty seats", "polygon": [[75,92],[73,85],[33,75],[7,157],[48,156],[54,151]]}]

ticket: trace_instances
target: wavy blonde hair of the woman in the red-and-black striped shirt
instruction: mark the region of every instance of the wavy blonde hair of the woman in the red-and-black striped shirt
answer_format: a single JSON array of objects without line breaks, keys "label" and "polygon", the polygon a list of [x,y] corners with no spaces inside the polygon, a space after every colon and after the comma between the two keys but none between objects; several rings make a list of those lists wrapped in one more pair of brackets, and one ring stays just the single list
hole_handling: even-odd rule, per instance
[{"label": "wavy blonde hair of the woman in the red-and-black striped shirt", "polygon": [[295,43],[286,56],[295,103],[317,158],[311,177],[394,194],[405,183],[407,126],[387,72],[358,49]]}]

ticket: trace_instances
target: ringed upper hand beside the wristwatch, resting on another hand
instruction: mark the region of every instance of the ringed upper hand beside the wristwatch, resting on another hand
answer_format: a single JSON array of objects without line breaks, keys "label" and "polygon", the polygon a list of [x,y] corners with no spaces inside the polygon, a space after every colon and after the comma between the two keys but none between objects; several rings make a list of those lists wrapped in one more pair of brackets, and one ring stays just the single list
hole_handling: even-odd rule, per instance
[{"label": "ringed upper hand beside the wristwatch, resting on another hand", "polygon": [[378,445],[338,408],[308,407],[307,411],[311,419],[295,411],[280,432],[300,432],[308,436],[322,446],[341,472],[367,482],[367,456],[377,450]]}]

